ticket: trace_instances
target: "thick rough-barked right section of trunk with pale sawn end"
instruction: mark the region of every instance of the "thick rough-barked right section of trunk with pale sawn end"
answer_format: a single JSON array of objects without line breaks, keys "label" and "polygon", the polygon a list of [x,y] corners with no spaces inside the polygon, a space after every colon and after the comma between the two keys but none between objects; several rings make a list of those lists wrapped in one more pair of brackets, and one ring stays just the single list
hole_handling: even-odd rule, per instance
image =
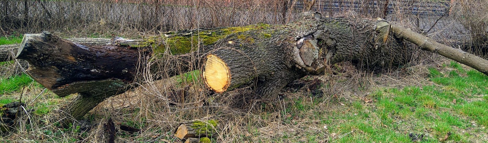
[{"label": "thick rough-barked right section of trunk with pale sawn end", "polygon": [[389,37],[386,21],[320,18],[319,13],[302,17],[287,25],[228,37],[204,60],[206,85],[224,92],[255,81],[256,94],[274,98],[289,82],[321,73],[326,64],[352,61],[369,68],[397,66],[407,63],[416,50],[402,39]]}]

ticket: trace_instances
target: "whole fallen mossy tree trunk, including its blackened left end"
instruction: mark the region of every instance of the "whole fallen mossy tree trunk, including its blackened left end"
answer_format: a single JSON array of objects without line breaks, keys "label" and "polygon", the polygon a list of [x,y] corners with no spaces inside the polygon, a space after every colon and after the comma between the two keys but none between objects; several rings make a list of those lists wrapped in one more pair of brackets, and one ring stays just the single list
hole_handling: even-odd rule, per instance
[{"label": "whole fallen mossy tree trunk, including its blackened left end", "polygon": [[418,50],[404,40],[410,35],[400,35],[385,20],[310,12],[301,17],[285,25],[179,30],[129,44],[84,45],[44,32],[24,36],[17,58],[29,61],[27,72],[56,94],[81,93],[67,106],[80,119],[106,97],[130,89],[123,87],[139,73],[160,79],[201,67],[215,92],[255,84],[255,93],[273,98],[288,82],[321,73],[326,65],[398,66]]}]

